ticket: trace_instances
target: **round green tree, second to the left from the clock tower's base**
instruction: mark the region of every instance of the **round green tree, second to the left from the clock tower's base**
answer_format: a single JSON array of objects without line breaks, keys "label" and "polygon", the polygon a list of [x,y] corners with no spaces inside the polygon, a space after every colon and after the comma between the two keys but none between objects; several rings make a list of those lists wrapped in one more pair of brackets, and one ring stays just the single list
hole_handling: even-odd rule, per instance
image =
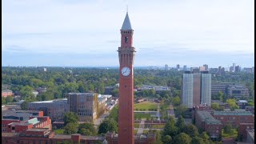
[{"label": "round green tree, second to the left from the clock tower's base", "polygon": [[97,132],[94,128],[94,124],[92,123],[82,123],[78,126],[78,133],[87,135],[87,136],[92,136],[96,135]]}]

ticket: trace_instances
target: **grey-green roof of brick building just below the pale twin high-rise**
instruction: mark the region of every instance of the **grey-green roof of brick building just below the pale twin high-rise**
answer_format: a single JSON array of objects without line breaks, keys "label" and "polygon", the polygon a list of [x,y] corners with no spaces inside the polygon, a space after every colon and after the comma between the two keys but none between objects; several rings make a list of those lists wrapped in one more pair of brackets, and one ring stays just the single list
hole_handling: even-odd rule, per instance
[{"label": "grey-green roof of brick building just below the pale twin high-rise", "polygon": [[197,113],[202,119],[202,122],[206,122],[207,124],[222,124],[221,121],[214,118],[208,111],[198,110]]}]

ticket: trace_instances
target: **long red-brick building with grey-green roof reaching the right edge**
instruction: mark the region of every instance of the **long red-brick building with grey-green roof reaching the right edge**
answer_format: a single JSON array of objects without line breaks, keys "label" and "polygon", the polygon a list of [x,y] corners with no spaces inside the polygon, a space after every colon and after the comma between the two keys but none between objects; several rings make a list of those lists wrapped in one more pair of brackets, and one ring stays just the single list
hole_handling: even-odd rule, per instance
[{"label": "long red-brick building with grey-green roof reaching the right edge", "polygon": [[223,125],[230,123],[233,127],[237,127],[239,123],[254,123],[254,116],[250,111],[214,111],[213,117]]}]

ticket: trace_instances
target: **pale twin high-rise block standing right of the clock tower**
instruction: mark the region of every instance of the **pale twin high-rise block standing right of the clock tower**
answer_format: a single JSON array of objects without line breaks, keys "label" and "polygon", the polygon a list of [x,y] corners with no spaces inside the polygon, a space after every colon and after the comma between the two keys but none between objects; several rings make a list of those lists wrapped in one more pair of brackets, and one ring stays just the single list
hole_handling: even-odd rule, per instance
[{"label": "pale twin high-rise block standing right of the clock tower", "polygon": [[206,104],[210,106],[211,74],[182,74],[182,105],[192,108],[194,105]]}]

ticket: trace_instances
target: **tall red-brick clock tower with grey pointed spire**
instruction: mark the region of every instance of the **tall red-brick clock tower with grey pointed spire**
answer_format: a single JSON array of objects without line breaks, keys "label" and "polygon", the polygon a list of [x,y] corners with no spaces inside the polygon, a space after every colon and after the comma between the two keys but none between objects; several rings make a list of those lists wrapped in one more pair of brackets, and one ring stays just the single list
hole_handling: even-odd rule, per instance
[{"label": "tall red-brick clock tower with grey pointed spire", "polygon": [[121,29],[119,57],[118,143],[134,144],[134,52],[128,12]]}]

